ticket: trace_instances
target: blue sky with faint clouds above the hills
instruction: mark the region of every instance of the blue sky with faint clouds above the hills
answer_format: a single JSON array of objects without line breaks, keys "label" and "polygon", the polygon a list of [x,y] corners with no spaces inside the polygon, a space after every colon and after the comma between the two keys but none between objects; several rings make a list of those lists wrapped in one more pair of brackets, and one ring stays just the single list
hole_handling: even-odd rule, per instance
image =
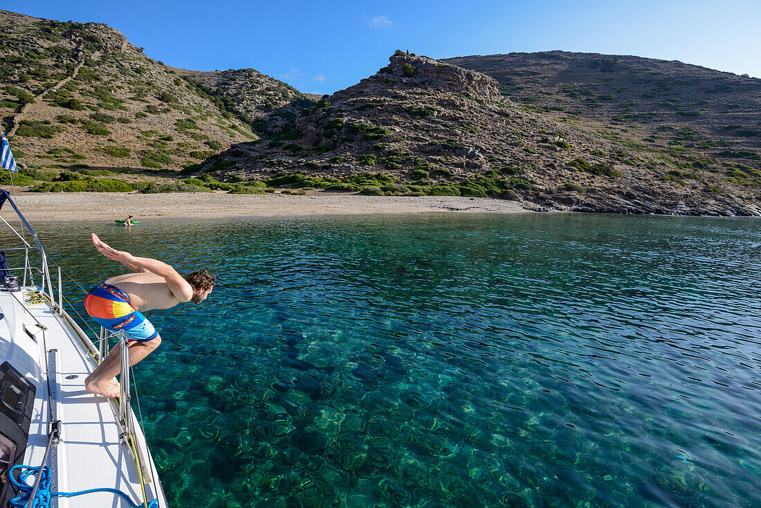
[{"label": "blue sky with faint clouds above the hills", "polygon": [[761,77],[761,1],[5,0],[0,8],[121,31],[167,65],[253,68],[328,94],[396,49],[432,58],[548,50],[680,60]]}]

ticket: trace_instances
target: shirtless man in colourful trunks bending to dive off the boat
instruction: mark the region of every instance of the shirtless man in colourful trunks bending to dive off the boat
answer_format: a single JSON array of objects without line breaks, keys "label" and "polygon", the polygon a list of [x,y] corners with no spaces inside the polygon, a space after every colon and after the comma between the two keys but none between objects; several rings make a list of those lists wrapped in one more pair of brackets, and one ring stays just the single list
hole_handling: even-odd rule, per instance
[{"label": "shirtless man in colourful trunks bending to dive off the boat", "polygon": [[[129,360],[135,365],[161,344],[161,336],[142,312],[172,308],[180,302],[203,302],[217,279],[206,270],[183,278],[170,265],[117,251],[94,233],[92,241],[101,254],[134,272],[111,277],[95,286],[84,298],[84,308],[107,330],[124,331],[129,341]],[[113,378],[121,369],[120,357],[119,344],[116,344],[84,380],[84,388],[97,395],[118,397],[119,383]]]}]

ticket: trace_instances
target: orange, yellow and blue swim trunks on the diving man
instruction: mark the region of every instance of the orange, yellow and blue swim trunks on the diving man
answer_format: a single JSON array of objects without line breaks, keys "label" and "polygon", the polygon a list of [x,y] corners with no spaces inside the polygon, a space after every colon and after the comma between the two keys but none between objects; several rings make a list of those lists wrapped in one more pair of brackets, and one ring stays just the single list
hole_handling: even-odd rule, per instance
[{"label": "orange, yellow and blue swim trunks on the diving man", "polygon": [[123,330],[128,340],[148,342],[158,332],[141,312],[129,305],[129,296],[116,286],[100,283],[84,297],[84,308],[100,326],[110,331]]}]

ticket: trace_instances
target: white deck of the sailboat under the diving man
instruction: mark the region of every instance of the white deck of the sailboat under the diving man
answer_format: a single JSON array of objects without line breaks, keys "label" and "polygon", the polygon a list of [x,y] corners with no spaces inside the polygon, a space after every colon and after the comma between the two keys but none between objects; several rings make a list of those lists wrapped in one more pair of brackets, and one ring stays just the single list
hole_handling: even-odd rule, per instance
[{"label": "white deck of the sailboat under the diving man", "polygon": [[[56,349],[56,386],[53,391],[57,391],[57,417],[62,421],[62,430],[56,447],[58,485],[51,490],[75,492],[109,487],[122,490],[134,503],[142,505],[144,497],[139,469],[132,450],[119,445],[122,431],[115,414],[116,403],[84,389],[84,378],[95,366],[86,347],[71,325],[56,315],[48,302],[25,303],[30,312],[27,313],[21,308],[21,299],[28,300],[28,296],[23,292],[0,291],[0,312],[5,314],[5,319],[0,320],[0,359],[8,359],[37,388],[24,464],[37,466],[43,460],[50,420],[45,350]],[[43,332],[37,327],[32,316],[47,330]],[[30,337],[24,327],[34,337]],[[39,366],[42,366],[42,372]],[[158,498],[159,506],[166,506],[158,474],[145,449],[142,431],[137,425],[132,429],[136,443],[142,447],[142,457],[148,461],[144,470],[153,471],[145,478],[146,498],[148,502]],[[148,483],[151,476],[154,481]],[[116,494],[97,492],[58,497],[58,506],[105,508],[131,505]]]}]

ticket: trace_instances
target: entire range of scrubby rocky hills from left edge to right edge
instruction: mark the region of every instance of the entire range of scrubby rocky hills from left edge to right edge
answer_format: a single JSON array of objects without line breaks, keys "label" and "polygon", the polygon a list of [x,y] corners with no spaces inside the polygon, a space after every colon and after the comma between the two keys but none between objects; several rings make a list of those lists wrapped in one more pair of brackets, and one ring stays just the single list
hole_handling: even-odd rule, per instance
[{"label": "entire range of scrubby rocky hills from left edge to right edge", "polygon": [[0,11],[0,28],[3,127],[21,167],[38,171],[27,180],[52,179],[49,190],[102,187],[56,184],[72,175],[39,170],[173,177],[168,170],[183,168],[199,177],[183,185],[205,190],[330,187],[613,212],[761,209],[755,78],[634,56],[437,61],[397,51],[376,74],[315,101],[253,69],[168,67],[103,24]]}]

